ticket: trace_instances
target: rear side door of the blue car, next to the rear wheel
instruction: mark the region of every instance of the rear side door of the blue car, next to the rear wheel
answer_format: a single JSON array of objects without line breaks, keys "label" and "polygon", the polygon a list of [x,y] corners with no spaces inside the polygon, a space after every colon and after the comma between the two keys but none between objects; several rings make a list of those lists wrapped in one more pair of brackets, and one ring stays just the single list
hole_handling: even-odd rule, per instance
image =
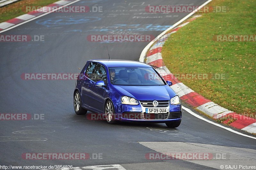
[{"label": "rear side door of the blue car, next to the rear wheel", "polygon": [[92,107],[92,86],[95,84],[93,81],[93,74],[96,66],[97,63],[91,62],[88,64],[84,71],[84,81],[82,83],[82,100],[85,107]]}]

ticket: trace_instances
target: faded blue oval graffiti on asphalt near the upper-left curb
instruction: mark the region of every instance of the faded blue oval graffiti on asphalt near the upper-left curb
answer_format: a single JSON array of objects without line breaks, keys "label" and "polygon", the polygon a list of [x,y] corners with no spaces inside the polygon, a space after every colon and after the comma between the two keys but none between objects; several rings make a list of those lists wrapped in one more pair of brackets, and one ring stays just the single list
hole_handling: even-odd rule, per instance
[{"label": "faded blue oval graffiti on asphalt near the upper-left curb", "polygon": [[41,24],[47,27],[61,26],[61,25],[73,25],[83,24],[87,22],[99,21],[99,17],[63,17],[63,18],[47,18],[36,21],[37,24]]}]

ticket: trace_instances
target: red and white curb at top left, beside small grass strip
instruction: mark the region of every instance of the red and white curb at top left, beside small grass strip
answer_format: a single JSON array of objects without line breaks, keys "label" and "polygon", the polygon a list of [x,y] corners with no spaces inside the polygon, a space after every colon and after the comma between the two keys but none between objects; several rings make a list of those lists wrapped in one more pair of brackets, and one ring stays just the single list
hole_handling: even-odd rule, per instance
[{"label": "red and white curb at top left, beside small grass strip", "polygon": [[[71,3],[73,1],[75,1],[75,0],[69,0],[69,1],[67,1],[67,0],[60,0],[60,1],[57,1],[57,2],[55,2],[53,4],[50,4],[50,5],[47,5],[47,6],[48,7],[50,7],[50,6],[51,7],[53,7],[53,6],[54,7],[61,7],[63,5]],[[9,28],[11,26],[15,26],[17,24],[20,24],[22,22],[25,22],[25,21],[27,21],[27,20],[29,20],[31,18],[35,18],[35,17],[37,17],[39,15],[51,12],[51,11],[49,11],[49,12],[39,12],[39,11],[40,11],[40,9],[38,9],[37,11],[28,12],[27,14],[23,14],[23,15],[20,15],[19,17],[12,18],[12,19],[10,19],[8,21],[0,23],[0,31],[2,31],[4,29],[7,29],[7,28]]]}]

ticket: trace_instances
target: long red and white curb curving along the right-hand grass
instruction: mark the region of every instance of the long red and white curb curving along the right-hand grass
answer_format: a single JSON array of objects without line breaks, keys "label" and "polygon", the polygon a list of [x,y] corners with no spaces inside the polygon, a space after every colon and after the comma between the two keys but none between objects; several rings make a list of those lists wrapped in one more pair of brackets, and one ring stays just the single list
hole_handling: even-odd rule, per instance
[{"label": "long red and white curb curving along the right-hand grass", "polygon": [[[188,105],[196,108],[197,110],[211,116],[213,119],[228,117],[228,120],[223,123],[228,123],[229,118],[234,118],[235,121],[229,125],[237,129],[242,129],[249,133],[256,133],[256,119],[238,115],[235,112],[232,112],[220,105],[212,102],[211,100],[205,99],[202,95],[196,93],[188,86],[181,83],[175,76],[166,68],[162,58],[162,47],[167,38],[172,34],[177,32],[180,28],[187,25],[189,22],[195,20],[199,16],[194,16],[189,19],[186,23],[181,24],[171,30],[168,30],[168,33],[162,33],[161,36],[158,36],[158,39],[151,43],[151,47],[148,46],[144,48],[140,55],[140,61],[149,65],[156,66],[156,70],[163,76],[165,80],[172,81],[171,88],[180,96],[180,99],[187,103]],[[146,52],[145,52],[146,51]]]}]

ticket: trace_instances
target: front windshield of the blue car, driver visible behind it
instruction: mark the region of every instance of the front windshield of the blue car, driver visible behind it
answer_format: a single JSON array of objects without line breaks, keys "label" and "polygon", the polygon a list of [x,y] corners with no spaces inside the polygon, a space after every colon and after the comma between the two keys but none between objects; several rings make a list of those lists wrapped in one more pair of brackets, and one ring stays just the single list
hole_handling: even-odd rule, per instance
[{"label": "front windshield of the blue car, driver visible behind it", "polygon": [[109,68],[109,74],[113,85],[165,85],[152,67],[112,67]]}]

